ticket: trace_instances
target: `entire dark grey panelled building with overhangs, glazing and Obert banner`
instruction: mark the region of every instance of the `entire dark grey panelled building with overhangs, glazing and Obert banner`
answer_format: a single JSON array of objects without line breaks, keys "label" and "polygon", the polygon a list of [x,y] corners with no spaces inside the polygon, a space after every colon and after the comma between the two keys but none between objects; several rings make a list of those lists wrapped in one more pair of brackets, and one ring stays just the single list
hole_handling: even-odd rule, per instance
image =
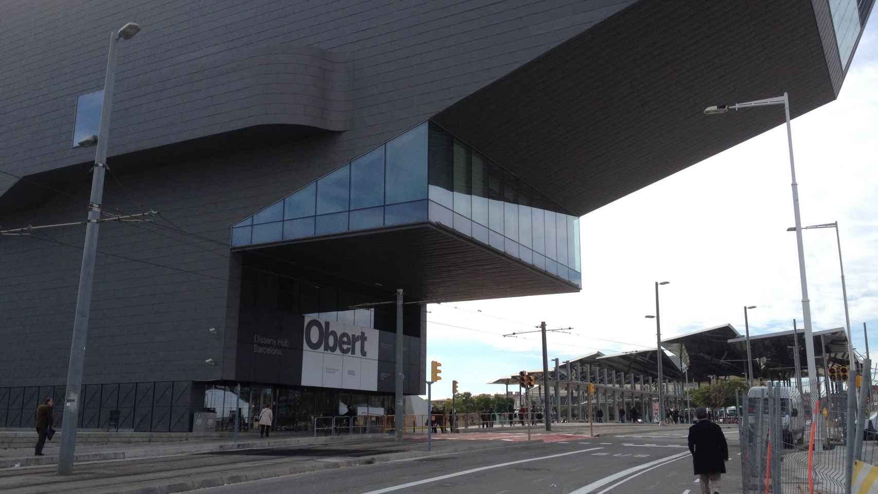
[{"label": "entire dark grey panelled building with overhangs, glazing and Obert banner", "polygon": [[[783,121],[707,104],[833,100],[871,10],[9,1],[0,226],[84,219],[108,33],[137,22],[104,211],[158,214],[101,226],[79,426],[384,411],[396,289],[418,394],[425,304],[579,290],[579,242],[608,241],[579,216]],[[0,237],[0,426],[63,401],[82,244],[82,226]]]}]

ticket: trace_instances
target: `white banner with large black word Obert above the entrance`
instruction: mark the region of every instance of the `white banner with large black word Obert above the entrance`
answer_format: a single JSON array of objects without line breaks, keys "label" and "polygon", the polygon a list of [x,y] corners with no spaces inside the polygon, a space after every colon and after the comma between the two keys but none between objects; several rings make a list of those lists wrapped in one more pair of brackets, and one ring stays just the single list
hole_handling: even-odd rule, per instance
[{"label": "white banner with large black word Obert above the entrance", "polygon": [[302,385],[378,390],[378,330],[305,318]]}]

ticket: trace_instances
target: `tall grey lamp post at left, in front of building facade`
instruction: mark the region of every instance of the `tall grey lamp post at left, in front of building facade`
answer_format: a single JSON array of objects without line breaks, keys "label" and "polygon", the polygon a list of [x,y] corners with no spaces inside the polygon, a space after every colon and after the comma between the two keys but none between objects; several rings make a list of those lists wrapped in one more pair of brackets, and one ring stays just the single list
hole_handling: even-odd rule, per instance
[{"label": "tall grey lamp post at left, in front of building facade", "polygon": [[76,453],[76,419],[79,416],[80,392],[83,388],[83,367],[85,363],[85,344],[89,336],[91,309],[91,282],[95,274],[95,254],[97,251],[97,226],[101,218],[101,202],[104,198],[104,174],[106,173],[107,143],[110,140],[110,116],[112,114],[112,95],[116,83],[116,44],[119,39],[131,39],[140,32],[140,25],[129,22],[119,31],[110,34],[110,50],[107,54],[107,71],[104,76],[104,102],[101,105],[101,120],[97,131],[97,150],[95,167],[91,176],[91,197],[89,199],[89,218],[85,226],[83,244],[83,263],[79,271],[79,289],[76,294],[76,314],[73,321],[73,336],[70,343],[70,362],[67,370],[65,388],[64,419],[61,423],[61,447],[58,452],[58,474],[73,472]]}]

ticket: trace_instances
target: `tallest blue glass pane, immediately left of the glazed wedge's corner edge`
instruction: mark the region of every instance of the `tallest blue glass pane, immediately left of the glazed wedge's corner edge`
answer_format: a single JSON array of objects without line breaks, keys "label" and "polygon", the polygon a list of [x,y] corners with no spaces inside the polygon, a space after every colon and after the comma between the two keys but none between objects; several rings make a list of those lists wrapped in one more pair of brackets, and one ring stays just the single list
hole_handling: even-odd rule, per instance
[{"label": "tallest blue glass pane, immediately left of the glazed wedge's corner edge", "polygon": [[385,204],[427,198],[427,123],[389,141],[386,153]]}]

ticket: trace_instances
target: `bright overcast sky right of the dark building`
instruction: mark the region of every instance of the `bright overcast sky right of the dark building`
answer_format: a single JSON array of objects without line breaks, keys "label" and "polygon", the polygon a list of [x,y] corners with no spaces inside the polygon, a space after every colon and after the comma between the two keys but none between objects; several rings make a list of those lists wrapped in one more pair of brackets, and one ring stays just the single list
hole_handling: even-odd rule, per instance
[{"label": "bright overcast sky right of the dark building", "polygon": [[[854,347],[865,354],[863,323],[878,352],[878,16],[860,40],[838,99],[792,123],[802,226],[838,220]],[[709,102],[694,102],[707,104]],[[795,106],[795,101],[791,102]],[[749,111],[781,111],[776,108]],[[723,118],[717,116],[716,118]],[[623,197],[581,219],[583,290],[428,306],[428,361],[443,363],[433,397],[451,381],[473,394],[522,369],[542,369],[546,321],[549,358],[562,361],[654,347],[655,281],[662,336],[730,323],[744,333],[802,327],[786,131],[783,125]],[[803,232],[815,331],[845,326],[835,233]],[[459,326],[459,327],[455,327]],[[511,388],[511,387],[510,387]]]}]

